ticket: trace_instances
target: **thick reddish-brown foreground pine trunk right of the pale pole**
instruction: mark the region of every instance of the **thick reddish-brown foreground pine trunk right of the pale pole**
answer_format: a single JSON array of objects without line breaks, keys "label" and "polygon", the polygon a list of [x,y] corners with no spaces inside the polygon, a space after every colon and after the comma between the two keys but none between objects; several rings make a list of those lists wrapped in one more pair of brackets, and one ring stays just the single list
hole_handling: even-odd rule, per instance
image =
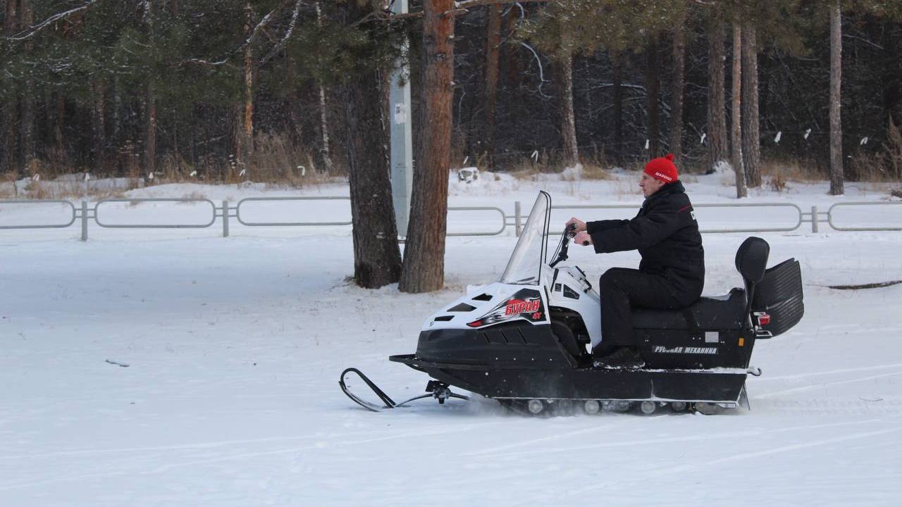
[{"label": "thick reddish-brown foreground pine trunk right of the pale pole", "polygon": [[410,227],[399,283],[403,292],[438,290],[445,283],[455,18],[444,13],[454,5],[454,0],[431,0],[423,5],[423,124],[429,128],[423,133],[420,164],[413,175]]}]

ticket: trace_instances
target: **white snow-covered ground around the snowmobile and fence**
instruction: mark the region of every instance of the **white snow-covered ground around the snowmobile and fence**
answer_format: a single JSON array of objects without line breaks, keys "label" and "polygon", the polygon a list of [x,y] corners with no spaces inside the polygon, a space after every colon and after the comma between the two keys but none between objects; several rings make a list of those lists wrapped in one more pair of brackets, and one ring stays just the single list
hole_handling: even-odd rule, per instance
[{"label": "white snow-covered ground around the snowmobile and fence", "polygon": [[[547,189],[556,205],[638,206],[633,187],[632,174],[483,177],[452,181],[449,202],[508,209]],[[695,203],[735,202],[722,175],[686,187]],[[750,202],[825,210],[886,196],[825,189],[790,184]],[[189,192],[347,189],[180,185],[129,197]],[[778,212],[753,211],[762,224]],[[880,217],[898,225],[900,212]],[[599,216],[560,213],[561,226]],[[452,215],[449,227],[480,219]],[[412,353],[423,320],[468,285],[497,280],[515,243],[510,233],[451,237],[446,289],[405,294],[347,280],[349,230],[235,226],[223,238],[215,227],[95,227],[84,243],[75,227],[0,231],[0,505],[825,506],[896,505],[902,494],[902,285],[829,288],[902,279],[902,233],[759,234],[771,265],[801,262],[805,318],[756,345],[751,410],[530,418],[478,397],[378,413],[345,398],[337,380],[348,366],[395,400],[422,392],[426,376],[388,356]],[[706,295],[741,285],[733,255],[746,236],[704,235]],[[597,279],[638,255],[574,248],[569,263]]]}]

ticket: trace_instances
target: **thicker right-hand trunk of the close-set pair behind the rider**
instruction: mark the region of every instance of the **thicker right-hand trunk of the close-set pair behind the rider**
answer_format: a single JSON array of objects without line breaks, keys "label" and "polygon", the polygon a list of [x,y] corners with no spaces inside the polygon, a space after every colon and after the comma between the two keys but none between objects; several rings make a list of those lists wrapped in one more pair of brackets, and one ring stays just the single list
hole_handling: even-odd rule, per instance
[{"label": "thicker right-hand trunk of the close-set pair behind the rider", "polygon": [[758,111],[758,35],[751,23],[742,27],[742,155],[746,183],[761,186]]}]

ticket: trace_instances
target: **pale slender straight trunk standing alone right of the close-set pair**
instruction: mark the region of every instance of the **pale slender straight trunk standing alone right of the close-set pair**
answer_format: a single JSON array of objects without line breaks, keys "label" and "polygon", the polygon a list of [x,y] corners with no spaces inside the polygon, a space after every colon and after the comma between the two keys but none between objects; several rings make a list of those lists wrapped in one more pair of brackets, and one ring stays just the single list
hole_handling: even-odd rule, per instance
[{"label": "pale slender straight trunk standing alone right of the close-set pair", "polygon": [[830,12],[830,195],[842,196],[842,8],[833,0]]}]

